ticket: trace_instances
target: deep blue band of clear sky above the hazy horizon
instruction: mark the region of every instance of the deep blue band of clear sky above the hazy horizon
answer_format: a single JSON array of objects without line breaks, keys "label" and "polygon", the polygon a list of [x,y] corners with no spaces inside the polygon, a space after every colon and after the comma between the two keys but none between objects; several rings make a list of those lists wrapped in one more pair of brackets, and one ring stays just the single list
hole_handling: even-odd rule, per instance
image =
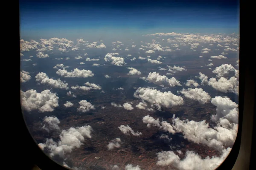
[{"label": "deep blue band of clear sky above the hazy horizon", "polygon": [[[237,0],[20,0],[22,37],[239,32]],[[119,35],[120,36],[120,35]]]}]

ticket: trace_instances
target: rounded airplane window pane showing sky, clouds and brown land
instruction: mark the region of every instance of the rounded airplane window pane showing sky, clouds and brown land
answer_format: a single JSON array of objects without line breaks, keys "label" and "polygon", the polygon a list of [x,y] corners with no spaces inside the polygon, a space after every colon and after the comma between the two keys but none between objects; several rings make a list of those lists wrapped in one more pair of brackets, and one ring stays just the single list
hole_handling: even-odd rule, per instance
[{"label": "rounded airplane window pane showing sky, clouds and brown land", "polygon": [[20,0],[20,102],[73,170],[214,170],[239,127],[239,2]]}]

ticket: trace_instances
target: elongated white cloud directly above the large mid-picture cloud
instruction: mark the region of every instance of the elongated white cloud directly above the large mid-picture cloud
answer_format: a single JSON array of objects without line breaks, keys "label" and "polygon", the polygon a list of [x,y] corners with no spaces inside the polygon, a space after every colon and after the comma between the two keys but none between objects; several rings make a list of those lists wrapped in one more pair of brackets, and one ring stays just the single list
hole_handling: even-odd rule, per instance
[{"label": "elongated white cloud directly above the large mid-picture cloud", "polygon": [[175,79],[175,77],[168,79],[168,77],[161,76],[156,72],[153,72],[153,73],[150,72],[148,74],[148,77],[145,79],[148,80],[149,82],[153,82],[156,85],[166,85],[170,87],[174,87],[176,85],[181,86],[180,82],[177,79]]}]

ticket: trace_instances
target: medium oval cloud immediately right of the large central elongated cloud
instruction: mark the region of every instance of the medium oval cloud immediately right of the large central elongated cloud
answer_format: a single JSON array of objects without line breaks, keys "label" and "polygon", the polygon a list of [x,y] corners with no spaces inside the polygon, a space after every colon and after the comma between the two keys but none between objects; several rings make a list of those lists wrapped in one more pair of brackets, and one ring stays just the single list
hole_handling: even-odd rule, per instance
[{"label": "medium oval cloud immediately right of the large central elongated cloud", "polygon": [[208,103],[211,99],[211,96],[209,96],[207,92],[203,91],[202,88],[183,88],[180,93],[184,94],[186,98],[197,100],[201,104]]}]

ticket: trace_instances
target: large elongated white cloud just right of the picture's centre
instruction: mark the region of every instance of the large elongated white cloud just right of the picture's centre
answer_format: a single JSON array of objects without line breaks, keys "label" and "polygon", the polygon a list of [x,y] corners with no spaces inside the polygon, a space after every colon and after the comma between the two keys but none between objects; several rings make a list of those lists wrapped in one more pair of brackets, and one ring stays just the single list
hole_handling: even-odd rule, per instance
[{"label": "large elongated white cloud just right of the picture's centre", "polygon": [[176,96],[170,91],[161,92],[151,88],[138,88],[134,93],[134,97],[155,105],[158,110],[161,110],[161,107],[172,108],[183,104],[182,97]]}]

